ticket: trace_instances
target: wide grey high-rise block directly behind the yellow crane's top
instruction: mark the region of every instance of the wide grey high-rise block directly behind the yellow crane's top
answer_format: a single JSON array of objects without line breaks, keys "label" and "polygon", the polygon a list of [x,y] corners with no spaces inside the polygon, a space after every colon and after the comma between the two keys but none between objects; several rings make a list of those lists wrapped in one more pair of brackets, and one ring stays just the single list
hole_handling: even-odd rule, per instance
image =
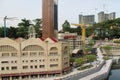
[{"label": "wide grey high-rise block directly behind the yellow crane's top", "polygon": [[95,22],[95,16],[94,15],[79,15],[79,23],[81,24],[82,22],[84,22],[85,24],[94,24]]}]

